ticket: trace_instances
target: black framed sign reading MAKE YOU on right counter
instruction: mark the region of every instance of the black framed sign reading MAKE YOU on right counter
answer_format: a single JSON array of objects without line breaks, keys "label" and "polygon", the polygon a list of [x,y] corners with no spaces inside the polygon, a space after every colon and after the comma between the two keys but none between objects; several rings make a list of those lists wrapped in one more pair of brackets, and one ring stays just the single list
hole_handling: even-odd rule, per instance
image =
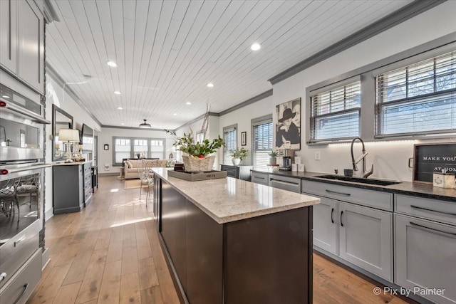
[{"label": "black framed sign reading MAKE YOU on right counter", "polygon": [[413,154],[413,182],[432,184],[432,174],[442,172],[456,174],[456,144],[416,144]]}]

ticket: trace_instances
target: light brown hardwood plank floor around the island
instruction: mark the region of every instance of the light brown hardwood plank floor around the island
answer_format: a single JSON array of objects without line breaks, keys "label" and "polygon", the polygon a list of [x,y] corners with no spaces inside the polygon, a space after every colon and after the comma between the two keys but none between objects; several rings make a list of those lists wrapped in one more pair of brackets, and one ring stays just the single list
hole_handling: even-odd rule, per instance
[{"label": "light brown hardwood plank floor around the island", "polygon": [[[46,222],[51,261],[27,303],[179,303],[150,202],[147,209],[139,189],[123,189],[115,177],[98,182],[83,211]],[[407,303],[374,295],[374,287],[314,254],[314,303]]]}]

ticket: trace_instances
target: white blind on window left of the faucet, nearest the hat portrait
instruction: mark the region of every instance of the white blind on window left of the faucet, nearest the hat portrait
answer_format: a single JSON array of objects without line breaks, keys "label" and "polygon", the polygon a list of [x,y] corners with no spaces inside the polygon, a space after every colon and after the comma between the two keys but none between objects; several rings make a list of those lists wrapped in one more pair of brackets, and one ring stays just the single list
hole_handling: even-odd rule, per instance
[{"label": "white blind on window left of the faucet, nearest the hat portrait", "polygon": [[360,135],[361,81],[311,96],[311,142]]}]

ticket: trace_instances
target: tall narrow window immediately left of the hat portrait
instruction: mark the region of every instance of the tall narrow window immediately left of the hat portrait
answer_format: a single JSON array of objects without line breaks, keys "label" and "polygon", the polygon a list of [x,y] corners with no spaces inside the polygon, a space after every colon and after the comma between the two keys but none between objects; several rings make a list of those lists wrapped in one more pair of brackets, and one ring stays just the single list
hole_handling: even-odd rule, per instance
[{"label": "tall narrow window immediately left of the hat portrait", "polygon": [[252,157],[254,169],[267,170],[272,149],[272,115],[252,120]]}]

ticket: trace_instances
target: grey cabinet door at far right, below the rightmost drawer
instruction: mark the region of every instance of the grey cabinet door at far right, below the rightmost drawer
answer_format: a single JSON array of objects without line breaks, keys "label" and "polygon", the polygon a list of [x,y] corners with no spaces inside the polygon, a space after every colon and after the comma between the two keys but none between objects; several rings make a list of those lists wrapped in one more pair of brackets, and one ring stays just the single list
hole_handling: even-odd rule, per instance
[{"label": "grey cabinet door at far right, below the rightmost drawer", "polygon": [[456,303],[455,266],[455,226],[395,215],[395,283],[411,290],[445,288],[443,295],[421,296]]}]

